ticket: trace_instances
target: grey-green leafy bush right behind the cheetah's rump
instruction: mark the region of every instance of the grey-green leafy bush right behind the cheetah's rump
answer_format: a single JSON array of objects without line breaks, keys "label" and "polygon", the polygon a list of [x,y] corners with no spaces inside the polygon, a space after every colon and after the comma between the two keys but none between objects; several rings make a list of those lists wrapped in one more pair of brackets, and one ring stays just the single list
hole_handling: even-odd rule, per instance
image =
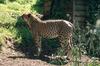
[{"label": "grey-green leafy bush right behind the cheetah's rump", "polygon": [[76,25],[74,32],[74,45],[77,45],[83,54],[100,57],[100,36],[95,25],[87,24],[81,29],[79,24]]}]

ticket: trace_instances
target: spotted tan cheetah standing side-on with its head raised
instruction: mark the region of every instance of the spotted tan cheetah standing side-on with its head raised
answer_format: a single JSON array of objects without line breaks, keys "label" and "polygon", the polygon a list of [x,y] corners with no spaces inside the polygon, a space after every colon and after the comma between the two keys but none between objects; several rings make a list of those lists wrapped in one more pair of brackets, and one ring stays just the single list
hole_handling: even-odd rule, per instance
[{"label": "spotted tan cheetah standing side-on with its head raised", "polygon": [[62,48],[68,56],[72,48],[73,24],[66,20],[41,20],[34,14],[23,14],[23,20],[28,24],[37,47],[37,56],[41,54],[41,38],[58,37]]}]

